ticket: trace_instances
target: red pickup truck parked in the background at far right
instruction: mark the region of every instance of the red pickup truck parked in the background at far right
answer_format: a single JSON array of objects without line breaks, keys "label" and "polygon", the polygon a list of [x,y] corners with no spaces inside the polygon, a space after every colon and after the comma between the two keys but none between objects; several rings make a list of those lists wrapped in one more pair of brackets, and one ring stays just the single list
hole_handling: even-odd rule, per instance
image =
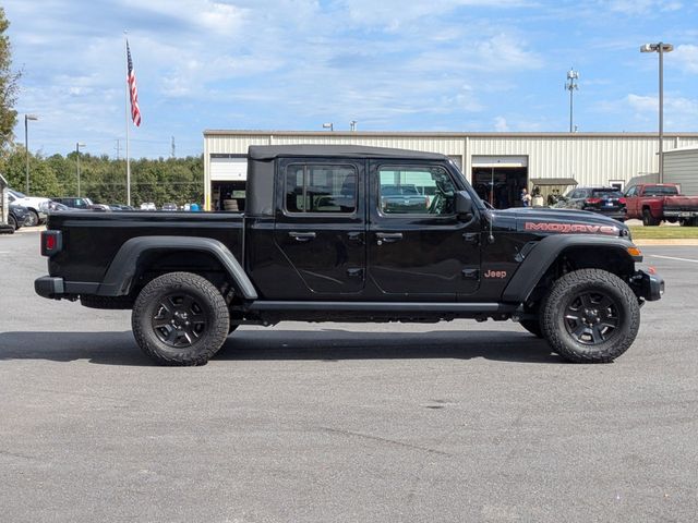
[{"label": "red pickup truck parked in the background at far right", "polygon": [[674,183],[645,183],[625,192],[628,219],[643,226],[659,226],[662,220],[682,226],[698,226],[698,196],[683,196]]}]

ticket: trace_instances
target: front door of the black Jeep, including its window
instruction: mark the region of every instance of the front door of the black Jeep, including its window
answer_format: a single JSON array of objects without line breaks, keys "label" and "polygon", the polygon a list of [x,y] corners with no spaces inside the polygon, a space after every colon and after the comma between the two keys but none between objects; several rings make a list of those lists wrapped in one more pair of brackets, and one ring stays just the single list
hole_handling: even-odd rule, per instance
[{"label": "front door of the black Jeep, including its window", "polygon": [[444,165],[371,161],[369,277],[384,295],[456,301],[480,284],[480,222],[454,212]]}]

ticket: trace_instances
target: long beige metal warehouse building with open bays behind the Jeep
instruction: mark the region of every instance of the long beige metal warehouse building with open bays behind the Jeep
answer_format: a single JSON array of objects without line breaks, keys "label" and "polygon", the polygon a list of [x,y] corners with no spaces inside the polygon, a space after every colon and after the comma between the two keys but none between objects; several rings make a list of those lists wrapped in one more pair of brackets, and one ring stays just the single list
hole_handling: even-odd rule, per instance
[{"label": "long beige metal warehouse building with open bays behind the Jeep", "polygon": [[[543,194],[564,193],[575,184],[624,188],[633,178],[657,173],[659,150],[655,133],[204,131],[206,208],[237,210],[244,206],[245,155],[250,145],[291,144],[441,153],[461,168],[481,195],[489,187],[500,187],[510,205],[516,205],[516,195],[524,186],[529,191],[539,186]],[[698,177],[698,133],[665,134],[663,145],[664,181],[674,181],[676,169],[672,162],[676,158],[681,181],[675,183],[682,183],[684,192],[688,192]],[[673,149],[686,154],[682,156]]]}]

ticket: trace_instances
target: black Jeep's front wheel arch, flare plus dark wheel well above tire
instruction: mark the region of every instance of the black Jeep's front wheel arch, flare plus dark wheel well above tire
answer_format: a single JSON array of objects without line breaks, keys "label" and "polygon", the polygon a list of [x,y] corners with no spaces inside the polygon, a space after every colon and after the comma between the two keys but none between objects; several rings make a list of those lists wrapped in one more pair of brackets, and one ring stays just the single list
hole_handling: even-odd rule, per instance
[{"label": "black Jeep's front wheel arch, flare plus dark wheel well above tire", "polygon": [[619,277],[631,276],[635,263],[628,247],[635,245],[617,236],[604,238],[582,234],[551,235],[528,252],[502,294],[502,301],[525,303],[546,278],[555,278],[557,269],[571,264],[574,270],[597,268]]}]

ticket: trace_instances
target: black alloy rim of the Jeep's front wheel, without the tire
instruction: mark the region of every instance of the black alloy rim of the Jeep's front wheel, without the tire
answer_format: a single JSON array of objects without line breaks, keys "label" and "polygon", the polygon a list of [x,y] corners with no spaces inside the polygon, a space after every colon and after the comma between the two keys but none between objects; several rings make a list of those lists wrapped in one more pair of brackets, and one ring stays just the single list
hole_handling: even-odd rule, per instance
[{"label": "black alloy rim of the Jeep's front wheel, without the tire", "polygon": [[565,328],[581,344],[599,344],[617,333],[619,314],[618,305],[604,291],[582,291],[565,308]]}]

